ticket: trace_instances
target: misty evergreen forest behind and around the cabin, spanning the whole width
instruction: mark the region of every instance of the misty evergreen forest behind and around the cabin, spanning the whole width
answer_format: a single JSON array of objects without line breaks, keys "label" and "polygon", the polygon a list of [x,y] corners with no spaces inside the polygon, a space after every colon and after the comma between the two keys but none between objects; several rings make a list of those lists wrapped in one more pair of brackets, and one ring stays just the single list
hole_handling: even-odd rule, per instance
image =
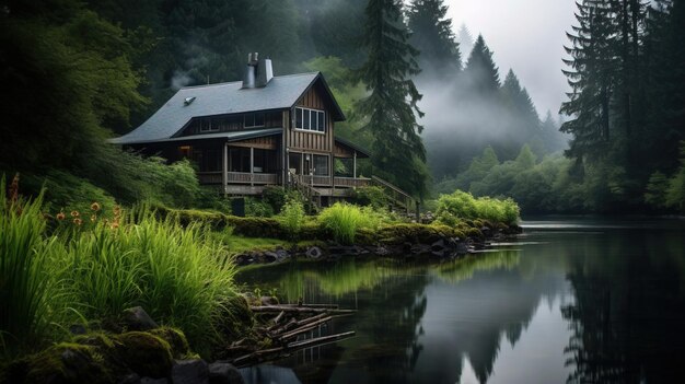
[{"label": "misty evergreen forest behind and around the cabin, spanning the whole width", "polygon": [[[541,115],[515,69],[500,73],[487,36],[452,25],[441,0],[2,0],[0,170],[30,190],[47,183],[58,206],[216,208],[193,164],[105,139],[181,86],[240,80],[259,51],[276,74],[322,71],[348,117],[339,135],[374,154],[364,172],[429,209],[462,189],[524,212],[682,212],[684,7],[580,2],[559,58],[568,100]],[[376,40],[374,15],[390,31]],[[374,78],[379,66],[396,72]]]}]

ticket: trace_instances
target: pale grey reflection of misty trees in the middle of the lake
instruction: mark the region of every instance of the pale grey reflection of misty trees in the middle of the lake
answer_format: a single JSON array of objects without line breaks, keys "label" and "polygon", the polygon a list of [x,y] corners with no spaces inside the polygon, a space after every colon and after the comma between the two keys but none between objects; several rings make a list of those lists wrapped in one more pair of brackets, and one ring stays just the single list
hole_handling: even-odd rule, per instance
[{"label": "pale grey reflection of misty trees in the middle of the lake", "polygon": [[417,377],[422,382],[458,382],[467,358],[478,381],[489,380],[502,342],[513,347],[541,301],[553,298],[562,284],[562,278],[554,274],[524,279],[521,260],[519,252],[502,251],[436,268],[438,279],[428,292],[433,312],[429,309],[426,316],[451,322],[448,331],[427,333],[430,350],[419,361]]}]

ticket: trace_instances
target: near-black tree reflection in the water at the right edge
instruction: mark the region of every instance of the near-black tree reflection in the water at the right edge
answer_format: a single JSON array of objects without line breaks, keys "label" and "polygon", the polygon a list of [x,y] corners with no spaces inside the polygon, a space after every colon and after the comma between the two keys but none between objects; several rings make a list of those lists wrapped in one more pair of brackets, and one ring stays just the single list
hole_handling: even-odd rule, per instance
[{"label": "near-black tree reflection in the water at the right edge", "polygon": [[683,244],[680,233],[655,232],[581,244],[568,274],[576,300],[562,309],[572,329],[565,352],[576,368],[568,383],[683,377]]}]

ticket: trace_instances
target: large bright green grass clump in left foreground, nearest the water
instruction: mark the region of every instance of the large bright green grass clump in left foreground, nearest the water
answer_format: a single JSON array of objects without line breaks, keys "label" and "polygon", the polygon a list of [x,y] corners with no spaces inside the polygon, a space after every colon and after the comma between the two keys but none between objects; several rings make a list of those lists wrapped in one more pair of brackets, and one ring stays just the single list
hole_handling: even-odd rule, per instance
[{"label": "large bright green grass clump in left foreground, nearest the water", "polygon": [[218,316],[236,296],[234,264],[201,223],[184,228],[142,208],[116,228],[103,223],[70,241],[61,263],[66,296],[86,318],[140,305],[195,346],[216,340],[214,325],[232,321]]}]

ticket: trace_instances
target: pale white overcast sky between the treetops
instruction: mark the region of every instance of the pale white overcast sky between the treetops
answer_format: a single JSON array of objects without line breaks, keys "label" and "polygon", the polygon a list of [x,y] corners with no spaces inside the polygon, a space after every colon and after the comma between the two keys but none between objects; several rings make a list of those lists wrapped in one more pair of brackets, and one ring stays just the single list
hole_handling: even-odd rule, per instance
[{"label": "pale white overcast sky between the treetops", "polygon": [[[559,110],[568,90],[561,73],[566,31],[574,23],[572,0],[445,0],[454,33],[466,24],[483,34],[503,80],[510,68],[527,89],[541,118]],[[468,53],[462,53],[468,55]]]}]

